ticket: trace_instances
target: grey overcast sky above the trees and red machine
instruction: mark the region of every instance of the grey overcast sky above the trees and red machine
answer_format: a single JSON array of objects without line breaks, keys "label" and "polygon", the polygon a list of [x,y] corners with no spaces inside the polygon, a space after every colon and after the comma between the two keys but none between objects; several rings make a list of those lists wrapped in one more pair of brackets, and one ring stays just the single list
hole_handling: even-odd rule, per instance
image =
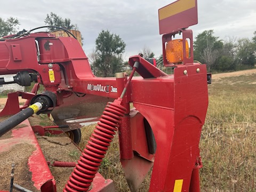
[{"label": "grey overcast sky above the trees and red machine", "polygon": [[[158,32],[158,9],[173,0],[26,0],[1,1],[1,18],[14,17],[20,29],[44,26],[46,14],[53,12],[76,23],[84,37],[87,55],[95,47],[102,29],[118,34],[126,43],[125,58],[147,46],[159,56],[162,39]],[[256,30],[256,0],[198,0],[198,24],[190,27],[194,37],[213,29],[215,36],[252,38]]]}]

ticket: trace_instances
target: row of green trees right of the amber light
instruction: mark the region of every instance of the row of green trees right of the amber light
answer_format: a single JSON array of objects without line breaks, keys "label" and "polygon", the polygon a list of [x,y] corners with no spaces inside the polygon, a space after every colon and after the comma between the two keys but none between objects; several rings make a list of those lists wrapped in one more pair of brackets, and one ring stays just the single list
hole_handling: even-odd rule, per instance
[{"label": "row of green trees right of the amber light", "polygon": [[256,63],[256,31],[254,37],[219,39],[213,30],[198,34],[194,41],[194,59],[206,63],[209,71],[234,71],[254,68]]}]

